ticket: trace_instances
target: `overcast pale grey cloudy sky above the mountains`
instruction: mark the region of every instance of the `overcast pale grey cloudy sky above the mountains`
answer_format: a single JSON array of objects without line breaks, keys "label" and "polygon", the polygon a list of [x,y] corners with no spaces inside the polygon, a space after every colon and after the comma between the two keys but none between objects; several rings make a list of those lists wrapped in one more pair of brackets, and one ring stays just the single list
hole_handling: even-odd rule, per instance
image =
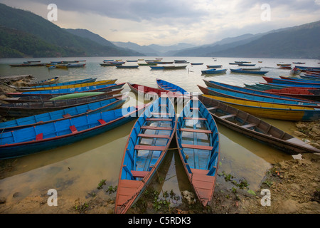
[{"label": "overcast pale grey cloudy sky above the mountains", "polygon": [[[320,0],[0,0],[62,28],[85,28],[109,41],[172,45],[214,43],[320,20]],[[267,5],[266,5],[267,4]],[[268,11],[270,9],[270,11]]]}]

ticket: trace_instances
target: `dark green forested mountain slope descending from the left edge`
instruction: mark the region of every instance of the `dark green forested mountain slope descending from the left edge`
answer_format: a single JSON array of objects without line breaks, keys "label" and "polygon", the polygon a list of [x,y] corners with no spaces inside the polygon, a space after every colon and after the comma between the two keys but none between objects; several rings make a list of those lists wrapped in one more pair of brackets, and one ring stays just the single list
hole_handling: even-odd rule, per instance
[{"label": "dark green forested mountain slope descending from the left edge", "polygon": [[[14,9],[4,4],[0,4],[0,26],[0,50],[5,51],[2,56],[7,56],[6,58],[10,58],[10,53],[15,53],[12,57],[17,53],[28,57],[137,55],[136,52],[75,36],[30,11]],[[14,30],[20,32],[21,36],[13,36]],[[13,42],[10,42],[11,38],[14,39]]]}]

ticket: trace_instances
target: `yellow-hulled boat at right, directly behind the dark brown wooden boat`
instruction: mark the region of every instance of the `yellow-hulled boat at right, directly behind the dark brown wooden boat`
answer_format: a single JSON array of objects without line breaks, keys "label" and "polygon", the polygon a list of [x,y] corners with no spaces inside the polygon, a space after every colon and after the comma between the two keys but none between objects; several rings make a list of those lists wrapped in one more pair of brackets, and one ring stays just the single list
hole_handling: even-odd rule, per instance
[{"label": "yellow-hulled boat at right, directly behind the dark brown wooden boat", "polygon": [[238,108],[246,113],[255,115],[260,118],[270,118],[277,120],[292,120],[292,121],[313,121],[319,120],[319,108],[307,108],[293,105],[280,105],[274,103],[264,103],[257,101],[240,100],[233,98],[223,98],[214,95],[202,95],[206,98],[219,100],[227,103],[230,106]]}]

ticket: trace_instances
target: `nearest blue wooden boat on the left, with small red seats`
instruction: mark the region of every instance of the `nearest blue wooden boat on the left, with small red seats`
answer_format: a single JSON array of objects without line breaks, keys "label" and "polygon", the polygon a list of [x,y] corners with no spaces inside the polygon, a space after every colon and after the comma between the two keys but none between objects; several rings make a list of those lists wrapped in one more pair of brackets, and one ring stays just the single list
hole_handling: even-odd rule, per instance
[{"label": "nearest blue wooden boat on the left, with small red seats", "polygon": [[134,114],[142,108],[129,107],[93,113],[1,133],[0,159],[50,150],[104,133],[134,120]]}]

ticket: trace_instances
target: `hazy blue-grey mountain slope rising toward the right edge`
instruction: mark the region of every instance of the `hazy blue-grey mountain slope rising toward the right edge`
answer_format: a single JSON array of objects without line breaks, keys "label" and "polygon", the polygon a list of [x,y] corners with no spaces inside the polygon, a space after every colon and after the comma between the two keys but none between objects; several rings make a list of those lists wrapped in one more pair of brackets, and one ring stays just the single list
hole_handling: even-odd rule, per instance
[{"label": "hazy blue-grey mountain slope rising toward the right edge", "polygon": [[174,52],[173,56],[319,58],[320,21]]}]

